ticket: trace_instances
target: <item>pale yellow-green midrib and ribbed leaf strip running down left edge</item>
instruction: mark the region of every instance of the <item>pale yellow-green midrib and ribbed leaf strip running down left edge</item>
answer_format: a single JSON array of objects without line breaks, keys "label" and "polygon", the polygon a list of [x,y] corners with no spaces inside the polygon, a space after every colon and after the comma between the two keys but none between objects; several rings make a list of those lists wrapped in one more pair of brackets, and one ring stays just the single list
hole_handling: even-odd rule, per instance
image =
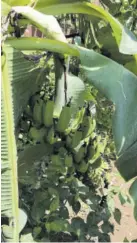
[{"label": "pale yellow-green midrib and ribbed leaf strip running down left edge", "polygon": [[[18,242],[17,154],[14,137],[12,83],[8,71],[7,55],[5,54],[2,57],[1,92],[1,214],[13,221],[11,239]],[[6,238],[6,231],[4,236]]]}]

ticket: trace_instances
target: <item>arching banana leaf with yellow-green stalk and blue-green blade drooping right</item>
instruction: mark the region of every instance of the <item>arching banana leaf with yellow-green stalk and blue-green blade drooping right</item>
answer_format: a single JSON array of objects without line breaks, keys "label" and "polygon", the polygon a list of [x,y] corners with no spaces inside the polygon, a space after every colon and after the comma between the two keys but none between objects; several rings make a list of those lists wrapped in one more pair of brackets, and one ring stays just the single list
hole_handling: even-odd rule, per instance
[{"label": "arching banana leaf with yellow-green stalk and blue-green blade drooping right", "polygon": [[[61,42],[55,40],[21,38],[20,40],[9,39],[7,43],[14,48],[24,50],[49,49],[53,52],[60,51],[79,56],[85,81],[94,84],[115,104],[113,135],[118,155],[124,154],[135,143],[137,140],[137,77],[134,74],[93,50],[66,43],[61,45]],[[133,156],[130,157],[131,160]],[[124,168],[121,169],[121,173],[125,177],[123,171]],[[134,176],[132,170],[128,173],[130,178]]]}]

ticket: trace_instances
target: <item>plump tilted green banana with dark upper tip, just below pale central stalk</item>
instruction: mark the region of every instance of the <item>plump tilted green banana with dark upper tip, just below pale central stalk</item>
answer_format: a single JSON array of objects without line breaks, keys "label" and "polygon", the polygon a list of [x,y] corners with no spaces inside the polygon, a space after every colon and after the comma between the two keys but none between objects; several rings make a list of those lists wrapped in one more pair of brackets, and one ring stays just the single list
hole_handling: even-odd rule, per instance
[{"label": "plump tilted green banana with dark upper tip, just below pale central stalk", "polygon": [[64,133],[70,123],[71,120],[71,107],[70,102],[62,108],[60,113],[60,117],[56,126],[56,130],[60,133]]}]

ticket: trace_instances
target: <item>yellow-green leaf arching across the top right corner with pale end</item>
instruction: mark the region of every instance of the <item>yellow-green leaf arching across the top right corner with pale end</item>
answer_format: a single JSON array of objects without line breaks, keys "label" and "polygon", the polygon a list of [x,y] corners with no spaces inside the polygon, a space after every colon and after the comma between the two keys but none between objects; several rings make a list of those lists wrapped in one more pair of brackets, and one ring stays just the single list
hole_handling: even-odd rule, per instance
[{"label": "yellow-green leaf arching across the top right corner with pale end", "polygon": [[[60,15],[65,13],[82,13],[87,14],[90,19],[90,15],[102,18],[109,22],[116,42],[119,45],[119,51],[124,54],[136,54],[137,53],[137,39],[131,31],[126,27],[123,27],[121,23],[115,19],[111,14],[105,11],[103,8],[96,6],[92,3],[84,1],[70,1],[66,0],[52,0],[47,1],[39,0],[36,9],[45,14]],[[92,19],[91,19],[92,20]]]}]

